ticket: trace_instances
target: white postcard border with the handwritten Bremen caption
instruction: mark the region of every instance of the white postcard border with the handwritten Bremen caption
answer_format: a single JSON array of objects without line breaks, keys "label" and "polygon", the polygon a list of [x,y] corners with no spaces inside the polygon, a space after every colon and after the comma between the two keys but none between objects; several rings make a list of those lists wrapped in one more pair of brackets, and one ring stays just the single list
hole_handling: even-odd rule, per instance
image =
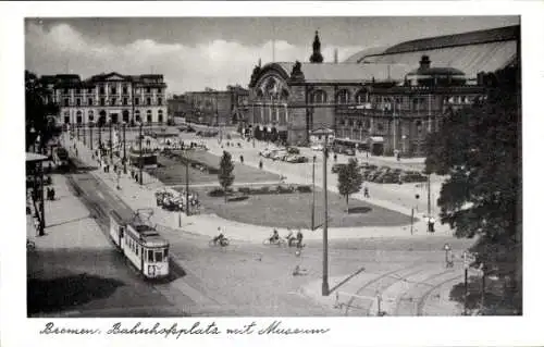
[{"label": "white postcard border with the handwritten Bremen caption", "polygon": [[[325,346],[537,346],[543,345],[539,318],[544,311],[542,292],[542,245],[540,230],[541,197],[544,190],[539,169],[539,141],[544,124],[541,111],[544,54],[544,4],[540,1],[473,1],[473,2],[2,2],[0,52],[0,150],[3,169],[2,183],[2,250],[1,255],[1,338],[3,346],[58,346],[70,343],[77,346],[126,344],[170,345],[233,345],[256,346],[272,344],[323,344]],[[523,72],[523,224],[524,224],[524,315],[522,318],[383,318],[383,319],[283,319],[292,326],[327,326],[331,333],[319,337],[263,337],[258,335],[239,338],[187,336],[180,340],[149,336],[122,338],[76,338],[72,336],[40,336],[42,320],[26,319],[24,269],[24,214],[22,161],[23,152],[23,71],[24,28],[27,16],[249,16],[249,15],[505,15],[521,14],[522,72]],[[399,28],[401,29],[401,28]],[[13,165],[10,165],[13,163]],[[9,171],[5,169],[9,165]],[[536,200],[539,199],[539,200]],[[21,245],[21,246],[20,246]],[[222,326],[251,321],[265,324],[274,319],[201,319],[202,323],[215,321]],[[78,319],[57,320],[72,326],[101,326],[107,329],[115,320]],[[135,320],[123,320],[123,322]],[[188,325],[194,319],[146,320],[177,321]]]}]

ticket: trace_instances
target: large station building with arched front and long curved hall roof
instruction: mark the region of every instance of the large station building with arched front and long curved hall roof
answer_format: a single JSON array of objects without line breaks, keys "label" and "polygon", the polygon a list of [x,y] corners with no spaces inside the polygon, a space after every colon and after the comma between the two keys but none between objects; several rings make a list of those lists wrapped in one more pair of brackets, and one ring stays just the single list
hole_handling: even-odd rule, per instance
[{"label": "large station building with arched front and long curved hall roof", "polygon": [[255,66],[245,132],[307,145],[317,128],[375,154],[421,156],[448,112],[483,95],[482,75],[519,58],[520,27],[401,42],[323,62],[316,33],[309,62]]}]

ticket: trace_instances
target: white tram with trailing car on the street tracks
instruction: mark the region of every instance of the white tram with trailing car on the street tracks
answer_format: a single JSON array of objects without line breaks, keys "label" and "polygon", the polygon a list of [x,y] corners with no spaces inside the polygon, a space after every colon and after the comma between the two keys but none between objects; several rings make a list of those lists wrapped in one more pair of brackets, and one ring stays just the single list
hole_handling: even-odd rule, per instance
[{"label": "white tram with trailing car on the street tracks", "polygon": [[169,275],[169,243],[138,215],[126,222],[111,211],[110,237],[144,277],[154,280]]}]

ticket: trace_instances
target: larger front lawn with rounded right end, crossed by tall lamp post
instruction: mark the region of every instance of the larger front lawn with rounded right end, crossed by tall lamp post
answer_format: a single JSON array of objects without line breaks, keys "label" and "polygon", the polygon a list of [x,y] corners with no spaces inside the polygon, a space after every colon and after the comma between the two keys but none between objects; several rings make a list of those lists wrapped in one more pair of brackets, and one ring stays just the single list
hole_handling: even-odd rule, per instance
[{"label": "larger front lawn with rounded right end, crossed by tall lamp post", "polygon": [[[218,185],[219,186],[219,185]],[[309,227],[312,194],[252,195],[242,201],[224,202],[223,197],[210,197],[213,188],[198,188],[202,213],[215,213],[237,222],[277,226]],[[329,225],[346,226],[396,226],[410,223],[410,218],[371,203],[350,199],[351,213],[346,213],[346,202],[339,195],[329,191]],[[316,191],[316,225],[323,222],[323,194]]]}]

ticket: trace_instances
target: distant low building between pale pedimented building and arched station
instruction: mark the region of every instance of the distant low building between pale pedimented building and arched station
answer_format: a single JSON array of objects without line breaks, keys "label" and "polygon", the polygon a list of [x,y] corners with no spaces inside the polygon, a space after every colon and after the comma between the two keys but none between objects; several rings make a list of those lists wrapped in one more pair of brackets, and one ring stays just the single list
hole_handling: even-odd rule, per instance
[{"label": "distant low building between pale pedimented building and arched station", "polygon": [[227,86],[226,90],[207,88],[187,91],[185,116],[188,122],[207,125],[234,125],[247,119],[249,90],[240,86]]}]

